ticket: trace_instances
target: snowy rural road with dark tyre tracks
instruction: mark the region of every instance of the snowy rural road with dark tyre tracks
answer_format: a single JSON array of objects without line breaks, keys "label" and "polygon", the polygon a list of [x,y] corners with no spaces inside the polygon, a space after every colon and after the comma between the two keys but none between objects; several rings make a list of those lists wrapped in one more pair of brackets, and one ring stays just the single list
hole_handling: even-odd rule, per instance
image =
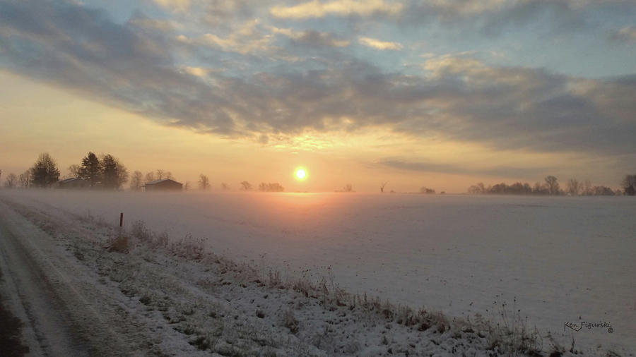
[{"label": "snowy rural road with dark tyre tracks", "polygon": [[52,236],[0,202],[1,289],[5,304],[24,323],[31,355],[131,354],[122,331],[112,328],[122,322],[112,314],[117,303],[100,295],[90,272],[67,258]]}]

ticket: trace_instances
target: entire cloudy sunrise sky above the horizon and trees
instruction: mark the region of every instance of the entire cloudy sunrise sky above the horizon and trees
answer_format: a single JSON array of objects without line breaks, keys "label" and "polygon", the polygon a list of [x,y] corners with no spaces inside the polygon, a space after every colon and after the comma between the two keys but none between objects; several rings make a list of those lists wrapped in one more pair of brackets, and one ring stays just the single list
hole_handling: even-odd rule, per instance
[{"label": "entire cloudy sunrise sky above the horizon and trees", "polygon": [[214,189],[618,188],[635,59],[628,0],[0,0],[0,170],[92,151]]}]

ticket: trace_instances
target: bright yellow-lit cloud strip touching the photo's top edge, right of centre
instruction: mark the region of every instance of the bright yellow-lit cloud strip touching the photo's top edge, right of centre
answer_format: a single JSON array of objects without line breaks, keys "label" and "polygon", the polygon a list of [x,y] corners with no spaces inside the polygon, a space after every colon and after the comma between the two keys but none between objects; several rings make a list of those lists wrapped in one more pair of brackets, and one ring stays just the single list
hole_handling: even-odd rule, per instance
[{"label": "bright yellow-lit cloud strip touching the photo's top edge, right of centre", "polygon": [[374,13],[395,15],[404,6],[400,3],[387,3],[384,0],[335,0],[321,2],[309,1],[295,6],[273,6],[270,9],[276,18],[291,18],[295,20],[305,18],[322,18],[324,16],[369,16]]}]

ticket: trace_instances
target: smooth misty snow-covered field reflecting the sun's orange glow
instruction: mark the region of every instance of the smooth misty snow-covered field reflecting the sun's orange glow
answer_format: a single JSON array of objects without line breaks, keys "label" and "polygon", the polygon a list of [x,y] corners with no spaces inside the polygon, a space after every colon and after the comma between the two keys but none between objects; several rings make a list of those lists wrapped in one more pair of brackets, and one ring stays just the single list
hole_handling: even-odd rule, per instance
[{"label": "smooth misty snow-covered field reflecting the sun's orange glow", "polygon": [[[636,200],[343,193],[1,193],[25,205],[142,220],[228,258],[449,316],[502,303],[565,346],[636,351]],[[608,322],[608,328],[565,327]]]}]

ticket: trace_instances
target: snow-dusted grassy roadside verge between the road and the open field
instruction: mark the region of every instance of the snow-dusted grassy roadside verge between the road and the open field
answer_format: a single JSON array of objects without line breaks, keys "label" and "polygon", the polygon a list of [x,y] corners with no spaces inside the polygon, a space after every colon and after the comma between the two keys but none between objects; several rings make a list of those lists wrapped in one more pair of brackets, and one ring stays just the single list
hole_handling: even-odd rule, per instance
[{"label": "snow-dusted grassy roadside verge between the road and the open field", "polygon": [[[278,272],[204,253],[192,237],[169,244],[141,222],[120,232],[94,217],[3,200],[46,232],[30,234],[39,240],[30,243],[54,243],[55,259],[64,260],[68,276],[81,277],[73,281],[86,286],[83,296],[93,309],[116,324],[111,329],[122,344],[142,355],[572,354],[534,335],[513,313],[499,327],[449,321],[347,294],[332,277],[282,279]],[[28,224],[15,216],[16,225]]]}]

